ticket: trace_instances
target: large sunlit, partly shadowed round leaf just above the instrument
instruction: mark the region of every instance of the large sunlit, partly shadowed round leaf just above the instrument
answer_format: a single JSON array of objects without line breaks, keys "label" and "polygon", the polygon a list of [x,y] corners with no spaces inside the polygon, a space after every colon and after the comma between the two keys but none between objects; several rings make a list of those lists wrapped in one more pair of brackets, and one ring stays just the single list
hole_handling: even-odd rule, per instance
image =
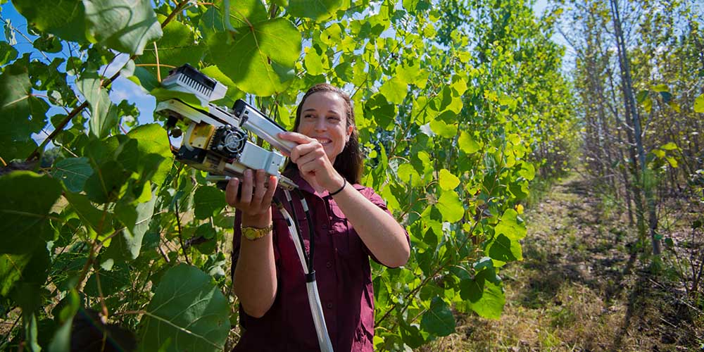
[{"label": "large sunlit, partly shadowed round leaf just above the instrument", "polygon": [[283,92],[301,53],[296,26],[275,18],[237,30],[239,34],[218,32],[208,37],[210,56],[218,68],[244,92],[258,96]]}]

